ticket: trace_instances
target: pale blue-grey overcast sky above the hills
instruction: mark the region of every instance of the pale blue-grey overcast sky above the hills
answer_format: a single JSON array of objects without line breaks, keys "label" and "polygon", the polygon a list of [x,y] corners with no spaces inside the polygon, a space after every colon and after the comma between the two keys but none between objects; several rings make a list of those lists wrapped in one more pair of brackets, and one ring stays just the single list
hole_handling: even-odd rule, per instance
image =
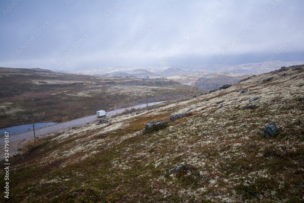
[{"label": "pale blue-grey overcast sky above the hills", "polygon": [[303,61],[303,2],[1,0],[0,66],[72,71]]}]

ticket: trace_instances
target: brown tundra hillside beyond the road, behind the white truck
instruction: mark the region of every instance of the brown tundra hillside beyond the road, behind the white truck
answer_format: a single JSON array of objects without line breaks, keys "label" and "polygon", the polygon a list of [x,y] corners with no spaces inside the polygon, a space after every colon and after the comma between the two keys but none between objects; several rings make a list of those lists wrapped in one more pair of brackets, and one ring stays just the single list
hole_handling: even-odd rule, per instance
[{"label": "brown tundra hillside beyond the road, behind the white truck", "polygon": [[192,87],[167,79],[98,77],[40,68],[0,68],[0,128],[61,122],[146,102],[180,99]]}]

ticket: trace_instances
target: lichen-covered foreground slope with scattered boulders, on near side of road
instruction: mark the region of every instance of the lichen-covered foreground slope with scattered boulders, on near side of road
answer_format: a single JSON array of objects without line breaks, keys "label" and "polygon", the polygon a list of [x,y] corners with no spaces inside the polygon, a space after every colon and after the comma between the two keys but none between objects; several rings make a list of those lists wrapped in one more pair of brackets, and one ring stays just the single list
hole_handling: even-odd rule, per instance
[{"label": "lichen-covered foreground slope with scattered boulders, on near side of road", "polygon": [[[54,137],[11,159],[10,201],[303,202],[303,71],[282,68]],[[143,132],[152,121],[166,122]],[[277,136],[264,136],[268,124]]]}]

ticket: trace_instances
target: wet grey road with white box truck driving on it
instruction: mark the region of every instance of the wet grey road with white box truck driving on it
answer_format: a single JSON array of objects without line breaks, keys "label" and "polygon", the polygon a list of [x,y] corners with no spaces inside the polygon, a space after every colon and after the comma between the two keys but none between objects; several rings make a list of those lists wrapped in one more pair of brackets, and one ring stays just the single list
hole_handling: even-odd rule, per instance
[{"label": "wet grey road with white box truck driving on it", "polygon": [[[163,103],[163,102],[166,102],[166,101],[152,102],[152,103],[148,103],[148,105],[153,106],[153,105],[160,104],[160,103]],[[106,113],[107,113],[107,116],[112,116],[112,115],[115,115],[116,113],[119,114],[119,113],[124,112],[125,109],[131,109],[131,108],[140,109],[140,108],[143,108],[143,107],[146,107],[146,106],[147,106],[147,104],[141,104],[141,105],[128,107],[128,108],[124,108],[124,109],[117,109],[117,110],[109,111],[109,112],[106,112]],[[47,126],[47,127],[35,130],[35,135],[40,135],[40,134],[44,134],[44,133],[48,133],[48,132],[52,132],[52,131],[58,131],[60,129],[64,129],[64,128],[68,128],[68,127],[74,127],[74,126],[76,126],[76,124],[79,124],[79,125],[80,124],[85,124],[85,123],[88,123],[90,121],[95,121],[97,118],[98,117],[96,115],[93,115],[93,116],[88,116],[88,117],[84,117],[84,118],[79,118],[79,119],[74,120],[74,121],[68,121],[68,122],[65,122],[65,123],[54,124],[54,125],[51,125],[51,126]],[[9,141],[11,142],[11,141],[16,141],[16,140],[21,140],[21,139],[28,138],[28,137],[31,137],[31,136],[34,136],[34,131],[24,132],[24,133],[15,134],[15,135],[9,135]],[[4,141],[5,141],[5,137],[0,138],[0,144],[4,144],[5,143]]]}]

